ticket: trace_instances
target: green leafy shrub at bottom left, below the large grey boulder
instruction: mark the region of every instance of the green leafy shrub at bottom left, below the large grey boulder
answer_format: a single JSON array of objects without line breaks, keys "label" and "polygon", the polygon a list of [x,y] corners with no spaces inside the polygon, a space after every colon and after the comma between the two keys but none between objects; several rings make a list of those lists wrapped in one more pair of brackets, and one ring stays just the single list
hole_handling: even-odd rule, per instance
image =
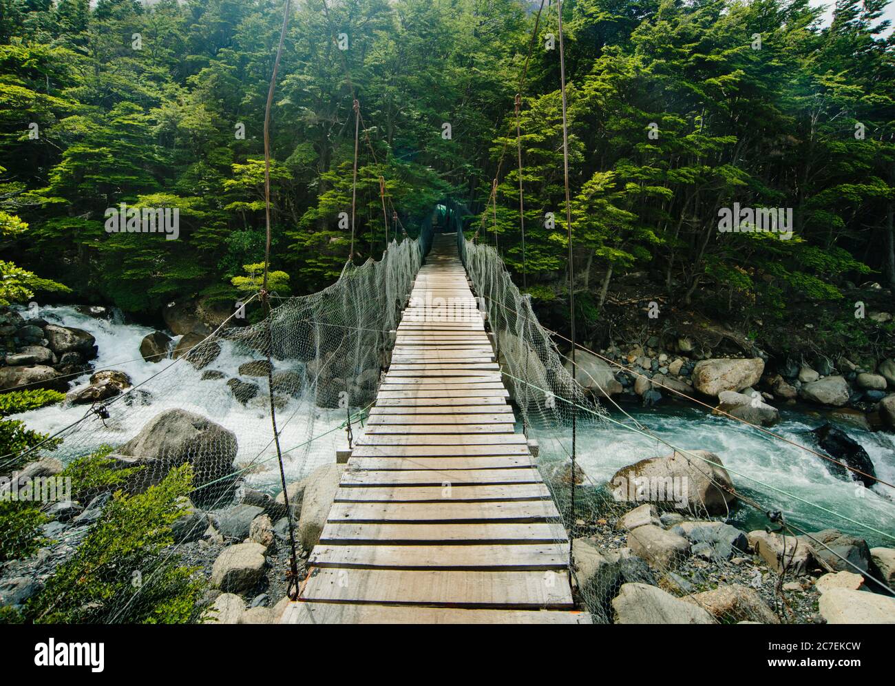
[{"label": "green leafy shrub at bottom left, below the large grey boulder", "polygon": [[199,617],[204,582],[166,551],[192,467],[172,469],[145,493],[118,491],[72,558],[30,600],[38,623],[183,623]]}]

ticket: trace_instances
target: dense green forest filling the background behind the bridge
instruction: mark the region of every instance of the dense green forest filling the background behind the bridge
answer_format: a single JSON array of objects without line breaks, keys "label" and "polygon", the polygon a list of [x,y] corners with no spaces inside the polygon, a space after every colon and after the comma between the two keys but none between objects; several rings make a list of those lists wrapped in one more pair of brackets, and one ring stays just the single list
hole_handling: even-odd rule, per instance
[{"label": "dense green forest filling the background behind the bridge", "polygon": [[[885,4],[838,0],[823,25],[806,0],[563,3],[585,338],[618,302],[619,279],[644,272],[639,296],[746,333],[808,301],[827,314],[798,316],[873,342],[848,332],[849,291],[895,284]],[[473,213],[468,236],[478,229],[516,277],[524,270],[547,321],[567,323],[556,10],[294,4],[271,115],[282,291],[320,290],[348,258],[339,214],[351,208],[356,98],[354,262],[379,259],[402,228],[415,236],[449,198]],[[233,300],[234,279],[263,266],[262,132],[281,17],[282,3],[250,0],[0,0],[0,300],[113,304],[144,319],[184,298]],[[791,236],[721,233],[719,210],[735,202],[788,210]],[[108,232],[105,213],[121,203],[176,208],[177,240]]]}]

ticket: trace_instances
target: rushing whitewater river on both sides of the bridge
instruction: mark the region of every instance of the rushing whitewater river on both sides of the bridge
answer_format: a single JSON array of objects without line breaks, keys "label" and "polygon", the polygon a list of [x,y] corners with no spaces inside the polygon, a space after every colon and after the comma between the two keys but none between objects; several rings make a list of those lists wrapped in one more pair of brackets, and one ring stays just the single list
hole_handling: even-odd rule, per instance
[{"label": "rushing whitewater river on both sides of the bridge", "polygon": [[[96,319],[69,306],[45,306],[40,308],[38,316],[48,322],[89,331],[97,339],[99,353],[93,361],[97,369],[122,370],[134,384],[146,382],[144,388],[152,393],[149,404],[144,407],[116,404],[113,416],[105,424],[98,417],[90,417],[92,429],[79,432],[80,441],[91,442],[90,447],[121,444],[130,440],[158,412],[180,407],[208,416],[236,433],[239,442],[236,464],[245,466],[253,462],[256,465],[247,475],[249,484],[268,492],[278,490],[279,473],[271,444],[267,398],[259,396],[247,406],[233,398],[226,380],[236,375],[236,367],[247,358],[244,354],[236,355],[229,342],[221,341],[221,355],[201,371],[185,363],[162,371],[171,364],[170,360],[154,364],[140,356],[141,340],[152,329],[124,323],[120,318]],[[289,364],[276,361],[274,366],[277,370],[290,368]],[[202,373],[209,370],[223,372],[225,377],[202,381]],[[75,385],[86,383],[89,375],[72,381]],[[262,388],[266,386],[264,380],[257,381]],[[86,411],[88,407],[83,405],[44,407],[16,418],[25,420],[39,432],[54,433],[84,416]],[[654,435],[680,449],[710,450],[717,454],[728,467],[737,489],[754,497],[766,510],[782,510],[788,518],[809,530],[836,527],[865,537],[871,545],[892,545],[895,540],[885,536],[895,536],[895,489],[889,486],[877,484],[866,489],[833,476],[823,459],[744,424],[709,416],[695,407],[667,403],[649,409],[626,408],[626,411],[649,426]],[[782,422],[773,429],[775,433],[814,447],[807,432],[823,422],[819,416],[786,409],[781,411],[781,416]],[[290,399],[286,407],[277,411],[277,417],[281,445],[289,450],[286,471],[290,479],[332,462],[337,447],[345,447],[345,432],[340,428],[345,420],[344,409],[320,409],[307,401]],[[632,424],[618,412],[613,418]],[[876,475],[895,483],[895,434],[842,428],[867,450],[874,461]],[[542,458],[567,456],[570,449],[567,428],[541,429],[537,435]],[[64,449],[61,452],[64,457]],[[618,424],[586,422],[578,433],[578,462],[593,484],[607,482],[620,467],[639,459],[670,452],[668,446],[654,438],[628,432]],[[733,519],[746,528],[768,524],[766,518],[748,508],[737,510]],[[861,525],[872,527],[882,535]]]}]

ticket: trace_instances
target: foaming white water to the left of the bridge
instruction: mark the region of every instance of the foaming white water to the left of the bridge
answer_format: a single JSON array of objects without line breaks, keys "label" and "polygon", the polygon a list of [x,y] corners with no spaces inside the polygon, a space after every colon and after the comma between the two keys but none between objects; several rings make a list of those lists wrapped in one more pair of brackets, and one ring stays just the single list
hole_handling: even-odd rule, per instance
[{"label": "foaming white water to the left of the bridge", "polygon": [[[23,313],[24,314],[24,313]],[[95,369],[115,369],[127,373],[134,386],[145,382],[141,389],[151,393],[149,403],[139,403],[127,407],[115,402],[109,411],[111,417],[105,422],[98,416],[90,416],[81,423],[76,433],[66,439],[57,456],[66,460],[72,452],[81,455],[102,444],[120,445],[132,439],[153,416],[170,408],[182,408],[207,416],[234,432],[238,441],[236,466],[244,467],[252,463],[254,467],[246,474],[246,480],[253,487],[266,491],[278,491],[279,471],[276,449],[271,441],[272,430],[268,397],[260,394],[245,406],[234,399],[226,386],[229,378],[237,376],[237,367],[251,357],[234,349],[229,341],[221,340],[221,354],[202,370],[195,370],[185,361],[175,366],[169,359],[158,363],[146,362],[140,355],[143,337],[152,333],[138,324],[124,323],[116,316],[111,321],[98,319],[78,312],[70,306],[47,305],[39,308],[39,316],[47,322],[76,327],[89,331],[96,338],[98,357],[92,360]],[[174,337],[172,347],[179,337]],[[171,367],[168,369],[168,367]],[[292,365],[274,361],[275,370],[286,370]],[[224,377],[216,380],[202,380],[202,373],[219,371]],[[87,383],[90,373],[70,379],[72,388]],[[266,379],[246,379],[259,382],[266,389]],[[81,419],[90,411],[89,405],[65,404],[14,416],[22,419],[29,428],[41,433],[55,433],[68,424]],[[280,445],[286,453],[286,476],[290,480],[299,478],[313,467],[332,462],[337,448],[345,447],[344,429],[339,428],[345,421],[345,409],[329,410],[315,407],[300,400],[289,399],[286,407],[277,411]],[[85,430],[86,428],[86,430]],[[315,439],[311,442],[311,439]],[[66,453],[66,444],[70,450]],[[72,446],[76,444],[76,447]]]}]

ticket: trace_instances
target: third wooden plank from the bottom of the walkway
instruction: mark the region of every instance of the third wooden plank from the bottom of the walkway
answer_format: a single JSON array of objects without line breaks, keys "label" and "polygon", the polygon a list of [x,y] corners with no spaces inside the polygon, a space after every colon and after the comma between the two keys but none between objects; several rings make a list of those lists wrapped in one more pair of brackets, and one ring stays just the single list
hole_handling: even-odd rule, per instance
[{"label": "third wooden plank from the bottom of the walkway", "polygon": [[567,544],[318,545],[308,566],[385,570],[562,570]]}]

